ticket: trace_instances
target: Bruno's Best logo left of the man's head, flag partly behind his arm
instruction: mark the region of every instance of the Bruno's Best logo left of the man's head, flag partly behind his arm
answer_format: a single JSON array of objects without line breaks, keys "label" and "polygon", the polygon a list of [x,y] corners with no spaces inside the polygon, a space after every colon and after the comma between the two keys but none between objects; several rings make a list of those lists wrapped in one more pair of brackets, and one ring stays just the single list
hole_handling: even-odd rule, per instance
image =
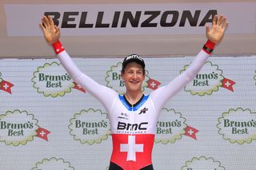
[{"label": "Bruno's Best logo left of the man's head, flag partly behind his arm", "polygon": [[34,83],[34,89],[37,89],[38,93],[42,93],[45,97],[63,97],[66,93],[70,93],[71,89],[85,92],[72,81],[62,65],[57,62],[46,63],[38,67],[33,76],[31,81]]}]

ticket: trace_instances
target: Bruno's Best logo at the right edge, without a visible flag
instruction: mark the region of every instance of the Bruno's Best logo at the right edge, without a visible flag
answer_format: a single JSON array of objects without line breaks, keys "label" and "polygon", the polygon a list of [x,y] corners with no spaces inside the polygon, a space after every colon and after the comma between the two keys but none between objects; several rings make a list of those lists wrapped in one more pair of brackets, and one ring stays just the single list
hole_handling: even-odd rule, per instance
[{"label": "Bruno's Best logo at the right edge, without a visible flag", "polygon": [[250,109],[230,109],[218,118],[217,128],[231,144],[250,144],[256,140],[256,113]]}]

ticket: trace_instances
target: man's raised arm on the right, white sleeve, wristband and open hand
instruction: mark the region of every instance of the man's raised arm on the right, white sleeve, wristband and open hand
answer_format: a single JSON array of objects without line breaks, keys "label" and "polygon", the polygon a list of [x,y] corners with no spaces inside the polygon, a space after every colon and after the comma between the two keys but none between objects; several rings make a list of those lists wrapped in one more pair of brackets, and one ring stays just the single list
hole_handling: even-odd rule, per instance
[{"label": "man's raised arm on the right, white sleeve, wristband and open hand", "polygon": [[173,81],[170,81],[168,85],[162,86],[159,89],[154,90],[151,93],[152,100],[155,104],[155,109],[158,113],[161,111],[166,101],[173,97],[176,93],[184,88],[190,81],[193,81],[194,77],[198,74],[202,66],[205,65],[207,58],[210,53],[214,50],[214,46],[222,41],[225,30],[228,26],[228,22],[223,15],[219,18],[217,15],[214,16],[212,26],[206,26],[206,38],[208,41],[203,45],[202,50],[194,58],[189,68],[185,72],[175,77]]}]

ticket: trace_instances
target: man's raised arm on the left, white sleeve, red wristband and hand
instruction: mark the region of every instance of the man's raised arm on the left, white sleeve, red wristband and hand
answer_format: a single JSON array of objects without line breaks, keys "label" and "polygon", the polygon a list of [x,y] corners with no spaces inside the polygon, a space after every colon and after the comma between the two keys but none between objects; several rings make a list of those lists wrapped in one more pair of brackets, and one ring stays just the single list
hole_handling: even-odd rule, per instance
[{"label": "man's raised arm on the left, white sleeve, red wristband and hand", "polygon": [[78,85],[81,85],[83,89],[86,89],[90,94],[101,101],[107,111],[109,111],[112,104],[111,102],[117,96],[117,93],[113,89],[99,85],[78,69],[78,66],[75,65],[74,61],[71,59],[70,55],[66,53],[66,50],[59,41],[60,29],[58,26],[54,25],[54,21],[50,16],[43,16],[42,23],[39,23],[39,26],[46,38],[46,42],[53,46],[54,52],[57,54],[59,61],[61,61],[62,66],[66,69],[66,72],[69,73],[70,77],[72,77]]}]

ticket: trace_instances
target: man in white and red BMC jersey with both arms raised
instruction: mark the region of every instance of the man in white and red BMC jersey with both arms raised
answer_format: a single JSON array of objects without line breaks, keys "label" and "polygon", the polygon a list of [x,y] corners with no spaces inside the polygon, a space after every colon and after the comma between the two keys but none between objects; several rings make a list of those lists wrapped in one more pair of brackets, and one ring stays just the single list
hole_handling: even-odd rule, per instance
[{"label": "man in white and red BMC jersey with both arms raised", "polygon": [[142,93],[142,82],[145,79],[145,63],[142,57],[133,54],[125,57],[122,62],[121,77],[126,85],[126,93],[120,95],[113,89],[99,85],[78,69],[59,42],[60,29],[54,25],[50,16],[44,16],[39,26],[46,42],[53,46],[70,77],[101,101],[108,113],[113,141],[110,170],[151,170],[155,128],[163,105],[194,79],[214,46],[221,42],[228,22],[223,15],[219,18],[214,16],[211,28],[206,26],[208,41],[190,67],[168,85],[154,90],[150,95]]}]

